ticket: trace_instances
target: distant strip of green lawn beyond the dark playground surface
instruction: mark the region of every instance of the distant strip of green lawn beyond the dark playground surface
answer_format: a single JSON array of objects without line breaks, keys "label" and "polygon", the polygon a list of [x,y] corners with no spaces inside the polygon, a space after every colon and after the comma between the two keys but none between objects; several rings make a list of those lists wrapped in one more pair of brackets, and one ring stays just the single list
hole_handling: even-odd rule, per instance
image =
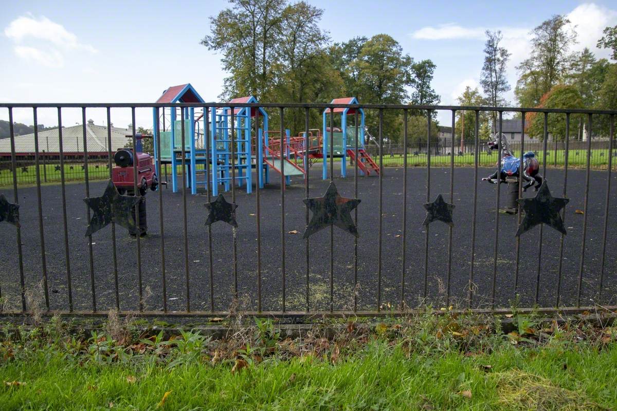
[{"label": "distant strip of green lawn beyond the dark playground surface", "polygon": [[[536,151],[536,158],[542,163],[543,152]],[[557,158],[555,158],[557,155]],[[375,161],[378,162],[376,156],[373,156]],[[383,165],[386,167],[400,167],[403,165],[403,156],[400,154],[390,155],[387,149],[384,148]],[[335,161],[340,161],[337,158]],[[426,154],[407,156],[408,166],[426,166],[428,157]],[[479,153],[479,166],[492,167],[495,166],[497,161],[497,153],[492,152],[489,155],[486,150],[482,150]],[[317,163],[321,163],[321,160],[317,160]],[[547,167],[563,167],[565,164],[565,150],[547,150]],[[463,155],[455,155],[454,164],[456,166],[473,166],[474,154],[465,153]],[[449,166],[450,155],[431,155],[431,166]],[[569,150],[568,153],[568,166],[573,168],[581,168],[587,165],[587,152],[586,150]],[[590,158],[591,168],[594,169],[607,169],[608,167],[608,150],[591,150]],[[65,164],[64,174],[65,181],[84,181],[85,173],[82,169],[81,163]],[[613,161],[613,169],[617,167],[617,161]],[[198,169],[203,169],[203,165],[197,166]],[[39,166],[39,172],[41,176],[41,183],[57,183],[60,182],[60,166],[56,164],[48,164],[45,167]],[[171,174],[171,167],[167,166],[167,173]],[[181,167],[178,167],[178,173],[181,173]],[[165,174],[163,172],[163,174]],[[107,179],[109,177],[109,169],[107,169],[106,162],[89,163],[88,165],[89,179]],[[8,168],[0,167],[0,187],[10,187],[13,184],[13,173]],[[36,184],[36,166],[20,166],[17,165],[17,184],[18,185],[33,185]]]}]

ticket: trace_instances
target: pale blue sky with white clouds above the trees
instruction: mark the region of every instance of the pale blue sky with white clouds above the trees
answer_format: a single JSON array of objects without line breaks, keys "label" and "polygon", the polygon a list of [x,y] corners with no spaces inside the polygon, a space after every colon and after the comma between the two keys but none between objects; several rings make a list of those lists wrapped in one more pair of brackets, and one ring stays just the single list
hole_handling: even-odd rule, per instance
[{"label": "pale blue sky with white clouds above the trees", "polygon": [[[433,86],[441,104],[456,104],[465,86],[479,84],[484,31],[501,30],[516,65],[529,54],[529,31],[555,14],[575,26],[576,51],[595,47],[606,26],[617,25],[617,2],[583,1],[366,1],[307,0],[324,10],[321,27],[331,41],[386,33],[416,60],[436,63]],[[173,3],[173,4],[172,4]],[[349,7],[353,4],[353,7]],[[191,83],[206,101],[217,101],[226,73],[221,55],[201,46],[209,17],[225,1],[7,1],[0,14],[0,102],[154,102],[169,86]],[[346,97],[346,96],[341,96]],[[510,91],[507,99],[515,104]],[[370,103],[370,102],[366,102]],[[449,113],[438,120],[449,124]],[[57,124],[57,112],[41,109],[39,123]],[[87,118],[104,124],[104,110]],[[7,120],[7,110],[0,119]],[[62,112],[65,126],[81,123],[79,109]],[[136,124],[151,128],[152,112],[137,110]],[[14,110],[14,121],[32,124],[32,111]],[[112,110],[112,123],[131,123],[130,109]]]}]

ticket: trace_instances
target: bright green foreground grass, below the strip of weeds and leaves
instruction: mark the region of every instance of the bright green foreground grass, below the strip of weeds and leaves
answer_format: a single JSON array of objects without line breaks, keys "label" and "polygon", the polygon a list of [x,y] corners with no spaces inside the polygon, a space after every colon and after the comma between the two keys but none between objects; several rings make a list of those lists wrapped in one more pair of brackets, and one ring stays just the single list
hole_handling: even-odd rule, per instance
[{"label": "bright green foreground grass, below the strip of weeds and leaves", "polygon": [[377,341],[336,365],[300,357],[236,373],[198,359],[174,368],[147,361],[67,364],[61,354],[41,351],[0,368],[2,380],[25,383],[4,383],[0,404],[3,410],[523,410],[538,403],[538,409],[613,409],[615,364],[616,345],[602,351],[506,346],[465,357],[408,356]]}]

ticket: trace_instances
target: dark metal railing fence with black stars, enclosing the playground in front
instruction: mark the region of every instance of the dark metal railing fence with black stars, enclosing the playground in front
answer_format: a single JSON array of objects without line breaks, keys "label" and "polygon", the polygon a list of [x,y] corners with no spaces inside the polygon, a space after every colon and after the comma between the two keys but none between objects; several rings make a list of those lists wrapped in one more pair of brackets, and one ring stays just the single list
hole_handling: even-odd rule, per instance
[{"label": "dark metal railing fence with black stars, enclosing the playground in front", "polygon": [[[226,103],[175,105],[205,110],[229,106]],[[279,116],[281,134],[286,113],[304,112],[307,139],[312,110],[363,108],[367,115],[375,115],[379,121],[378,147],[373,149],[373,154],[381,173],[377,177],[362,177],[356,165],[353,177],[335,178],[334,158],[330,157],[326,182],[317,173],[309,172],[304,175],[301,189],[298,184],[286,189],[281,174],[278,187],[271,184],[260,190],[257,185],[254,194],[245,195],[237,192],[232,164],[233,184],[225,197],[238,205],[232,214],[238,227],[222,222],[204,225],[207,214],[204,204],[209,204],[212,210],[215,203],[210,197],[211,187],[208,185],[203,195],[190,196],[186,184],[180,184],[181,195],[172,195],[171,190],[158,190],[154,194],[156,200],[150,203],[151,236],[137,236],[132,240],[123,237],[122,227],[113,221],[110,227],[84,235],[88,222],[92,224],[94,220],[91,220],[91,208],[82,200],[104,191],[104,184],[91,179],[96,173],[111,177],[114,155],[111,149],[106,163],[90,160],[84,127],[84,155],[80,163],[64,158],[60,150],[57,170],[60,186],[48,187],[44,185],[45,174],[49,181],[50,172],[54,173],[56,166],[52,166],[54,171],[49,170],[50,164],[38,147],[37,110],[56,109],[58,122],[62,124],[63,109],[81,108],[85,124],[87,110],[102,108],[110,124],[112,107],[130,110],[135,124],[136,110],[154,108],[154,118],[159,118],[160,109],[169,105],[0,104],[0,108],[8,111],[10,124],[15,109],[32,110],[35,128],[34,166],[23,172],[34,174],[35,187],[20,187],[18,172],[11,174],[12,189],[0,189],[0,194],[6,197],[0,197],[0,221],[4,220],[0,224],[3,302],[0,306],[5,314],[22,314],[39,306],[44,311],[61,314],[98,315],[115,308],[125,313],[160,316],[218,316],[243,311],[252,315],[303,317],[398,314],[428,304],[436,307],[452,304],[490,312],[509,311],[512,306],[584,311],[594,306],[615,309],[617,304],[617,254],[614,246],[608,246],[617,241],[613,224],[609,224],[615,204],[611,191],[612,155],[603,156],[607,171],[592,171],[592,141],[588,140],[584,148],[575,149],[573,156],[571,142],[566,138],[563,170],[550,169],[555,149],[544,139],[538,157],[550,192],[547,194],[549,188],[544,189],[543,185],[537,197],[534,192],[525,193],[521,179],[516,187],[521,199],[519,213],[505,216],[500,213],[505,197],[500,184],[481,182],[482,176],[495,171],[502,147],[499,145],[498,152],[486,163],[492,169],[483,168],[485,144],[479,140],[477,126],[470,153],[471,168],[455,168],[457,161],[462,161],[457,160],[461,156],[455,149],[455,141],[444,157],[443,153],[435,154],[428,139],[424,153],[401,156],[400,171],[384,169],[388,158],[395,153],[387,152],[389,147],[384,146],[381,132],[386,110],[396,110],[403,116],[403,147],[411,146],[407,132],[411,110],[416,113],[421,110],[427,118],[435,110],[446,110],[452,115],[452,128],[457,111],[473,111],[476,124],[481,112],[493,111],[499,115],[498,129],[505,112],[521,113],[523,119],[526,112],[538,112],[544,115],[545,136],[548,136],[550,116],[565,113],[569,121],[569,116],[577,113],[586,116],[590,135],[594,118],[602,116],[610,120],[607,153],[612,153],[617,112],[517,107],[234,104],[231,123],[234,108],[262,107]],[[259,115],[259,110],[255,112]],[[333,128],[333,110],[329,111],[328,121]],[[258,124],[255,121],[255,132]],[[430,136],[430,121],[426,128]],[[524,120],[521,128],[524,129]],[[184,127],[182,130],[181,147],[186,147]],[[12,128],[10,133],[10,170],[18,171],[20,164],[15,155]],[[208,129],[205,134],[209,134]],[[231,128],[231,152],[234,152],[235,138]],[[205,144],[208,145],[207,139]],[[358,158],[358,147],[352,149]],[[515,150],[523,157],[530,149],[523,139]],[[331,156],[333,151],[330,150]],[[572,169],[576,151],[584,158],[582,170]],[[408,167],[420,156],[423,156],[421,167]],[[184,168],[184,149],[181,158]],[[283,156],[280,161],[283,169]],[[66,184],[71,178],[70,171],[83,173],[85,184]],[[205,174],[208,173],[206,163]],[[162,175],[160,166],[157,174]],[[339,185],[343,198],[336,197],[328,184]],[[564,207],[565,200],[559,197],[568,195],[571,204]],[[362,205],[355,199],[362,200]],[[106,210],[114,213],[115,209],[109,206]],[[96,218],[101,224],[111,221],[109,215],[100,213]],[[15,227],[7,224],[18,220]],[[431,224],[433,221],[435,224]],[[560,226],[559,221],[566,224]],[[139,213],[136,224],[139,226]],[[532,229],[536,225],[539,227]],[[544,230],[545,225],[563,230]],[[297,235],[301,234],[297,228],[307,227],[315,231],[326,227],[326,230],[310,236]],[[515,229],[517,233],[513,234]],[[360,233],[359,237],[349,235],[355,232]],[[307,233],[312,234],[310,230]]]}]

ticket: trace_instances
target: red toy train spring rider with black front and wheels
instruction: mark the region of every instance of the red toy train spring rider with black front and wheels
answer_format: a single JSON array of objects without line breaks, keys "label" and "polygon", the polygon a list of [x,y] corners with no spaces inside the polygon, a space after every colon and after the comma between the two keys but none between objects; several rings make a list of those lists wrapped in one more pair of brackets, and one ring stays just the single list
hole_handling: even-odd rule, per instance
[{"label": "red toy train spring rider with black front and wheels", "polygon": [[[126,137],[132,137],[132,135]],[[155,191],[159,187],[159,178],[154,169],[154,159],[148,153],[141,152],[141,139],[144,137],[152,136],[147,134],[135,135],[137,189],[142,196],[146,195],[148,188]],[[127,191],[135,189],[133,161],[135,161],[135,152],[131,147],[119,149],[114,155],[114,163],[116,165],[112,169],[112,181],[120,194],[125,194]]]}]

